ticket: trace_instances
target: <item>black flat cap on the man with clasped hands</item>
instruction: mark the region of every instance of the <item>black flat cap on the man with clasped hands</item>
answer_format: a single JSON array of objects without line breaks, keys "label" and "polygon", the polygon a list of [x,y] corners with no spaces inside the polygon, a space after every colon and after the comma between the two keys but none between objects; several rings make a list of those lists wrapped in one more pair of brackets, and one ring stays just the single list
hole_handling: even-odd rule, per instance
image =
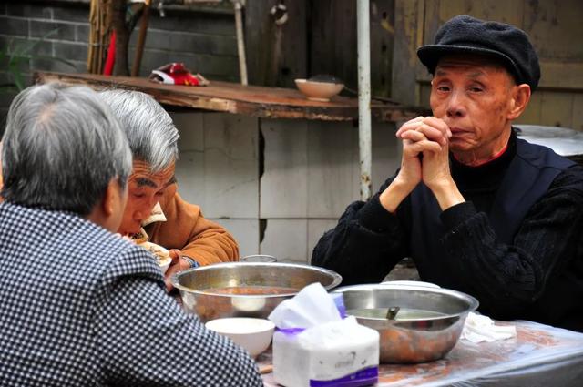
[{"label": "black flat cap on the man with clasped hands", "polygon": [[417,48],[417,56],[431,74],[442,56],[464,53],[493,56],[506,66],[517,84],[526,83],[532,91],[538,86],[537,52],[527,34],[514,25],[459,15],[437,30],[435,44]]}]

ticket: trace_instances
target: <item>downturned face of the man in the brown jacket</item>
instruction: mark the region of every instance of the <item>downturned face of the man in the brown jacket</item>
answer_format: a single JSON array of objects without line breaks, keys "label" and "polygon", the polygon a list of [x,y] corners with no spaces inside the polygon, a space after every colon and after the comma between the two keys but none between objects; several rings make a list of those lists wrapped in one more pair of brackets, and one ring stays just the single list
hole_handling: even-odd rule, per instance
[{"label": "downturned face of the man in the brown jacket", "polygon": [[134,159],[133,170],[128,178],[128,203],[118,232],[123,235],[139,231],[142,221],[148,219],[152,209],[163,197],[165,190],[176,181],[175,165],[152,174],[148,164]]}]

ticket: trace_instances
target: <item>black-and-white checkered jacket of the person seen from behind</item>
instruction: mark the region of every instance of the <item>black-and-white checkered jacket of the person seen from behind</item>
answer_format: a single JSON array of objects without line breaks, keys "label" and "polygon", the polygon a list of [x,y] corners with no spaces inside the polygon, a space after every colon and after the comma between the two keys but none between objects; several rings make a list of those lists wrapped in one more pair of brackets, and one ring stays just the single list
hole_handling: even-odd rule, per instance
[{"label": "black-and-white checkered jacket of the person seen from behind", "polygon": [[77,215],[0,204],[0,386],[261,386],[165,291],[146,250]]}]

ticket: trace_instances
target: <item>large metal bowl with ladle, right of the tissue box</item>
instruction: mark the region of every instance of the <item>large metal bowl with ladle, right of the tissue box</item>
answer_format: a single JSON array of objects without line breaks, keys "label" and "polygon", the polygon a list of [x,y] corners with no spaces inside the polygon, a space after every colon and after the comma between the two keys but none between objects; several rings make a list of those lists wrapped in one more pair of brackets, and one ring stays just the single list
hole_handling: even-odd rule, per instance
[{"label": "large metal bowl with ladle, right of the tissue box", "polygon": [[[343,293],[348,314],[380,333],[383,363],[443,358],[458,341],[467,314],[478,306],[478,301],[465,293],[440,288],[375,284],[334,292]],[[393,307],[400,308],[394,320],[387,316]]]}]

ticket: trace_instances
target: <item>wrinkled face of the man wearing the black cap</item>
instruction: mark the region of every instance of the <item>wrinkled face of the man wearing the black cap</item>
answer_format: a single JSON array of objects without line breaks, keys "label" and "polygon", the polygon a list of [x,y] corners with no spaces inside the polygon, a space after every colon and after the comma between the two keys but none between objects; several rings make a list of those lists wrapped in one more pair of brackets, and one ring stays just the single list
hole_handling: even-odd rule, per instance
[{"label": "wrinkled face of the man wearing the black cap", "polygon": [[435,68],[430,105],[450,127],[454,154],[488,157],[506,146],[513,77],[481,56],[445,56]]}]

